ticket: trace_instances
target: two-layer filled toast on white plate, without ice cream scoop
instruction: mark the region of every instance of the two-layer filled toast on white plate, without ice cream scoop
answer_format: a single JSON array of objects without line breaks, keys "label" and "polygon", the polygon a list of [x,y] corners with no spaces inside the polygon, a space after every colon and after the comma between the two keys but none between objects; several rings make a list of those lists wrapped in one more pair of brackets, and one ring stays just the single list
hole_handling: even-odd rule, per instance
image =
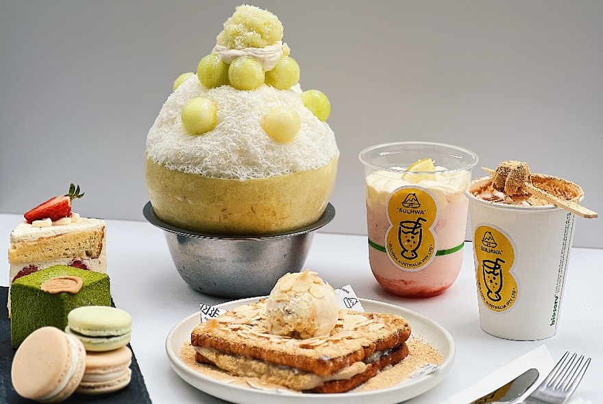
[{"label": "two-layer filled toast on white plate, without ice cream scoop", "polygon": [[339,310],[325,336],[297,339],[269,333],[266,303],[242,305],[201,323],[191,334],[195,359],[239,377],[258,377],[292,390],[319,393],[356,388],[408,355],[410,326],[401,316]]}]

